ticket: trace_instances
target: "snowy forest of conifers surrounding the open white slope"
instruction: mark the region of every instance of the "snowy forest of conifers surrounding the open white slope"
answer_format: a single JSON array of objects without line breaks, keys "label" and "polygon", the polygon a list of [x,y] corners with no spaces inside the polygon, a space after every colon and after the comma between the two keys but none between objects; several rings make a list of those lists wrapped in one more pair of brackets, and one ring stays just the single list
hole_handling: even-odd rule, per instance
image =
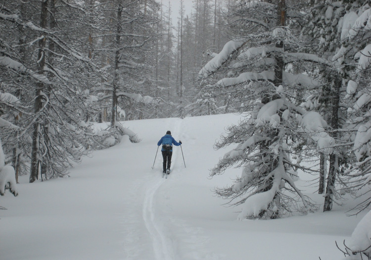
[{"label": "snowy forest of conifers surrounding the open white slope", "polygon": [[242,169],[215,191],[250,205],[239,218],[317,210],[298,172],[323,211],[344,194],[368,209],[371,2],[193,0],[190,14],[171,2],[1,1],[2,176],[63,177],[123,135],[139,142],[128,120],[244,113],[210,171]]}]

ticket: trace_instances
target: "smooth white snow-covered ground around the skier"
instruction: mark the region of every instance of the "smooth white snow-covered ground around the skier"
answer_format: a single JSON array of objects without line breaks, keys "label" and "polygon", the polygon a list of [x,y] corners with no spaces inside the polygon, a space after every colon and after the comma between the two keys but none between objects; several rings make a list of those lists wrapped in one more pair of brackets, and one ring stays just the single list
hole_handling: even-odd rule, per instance
[{"label": "smooth white snow-covered ground around the skier", "polygon": [[[346,216],[334,206],[306,216],[236,220],[241,207],[226,207],[216,186],[231,183],[240,169],[209,178],[229,150],[214,151],[224,128],[239,115],[213,115],[124,122],[140,143],[123,141],[96,151],[69,178],[29,184],[20,178],[18,197],[0,197],[0,259],[127,260],[338,260],[335,246],[350,238],[366,214]],[[162,156],[152,164],[157,141],[170,130],[172,172],[162,177]],[[185,167],[186,166],[186,167]],[[297,185],[314,200],[316,187]]]}]

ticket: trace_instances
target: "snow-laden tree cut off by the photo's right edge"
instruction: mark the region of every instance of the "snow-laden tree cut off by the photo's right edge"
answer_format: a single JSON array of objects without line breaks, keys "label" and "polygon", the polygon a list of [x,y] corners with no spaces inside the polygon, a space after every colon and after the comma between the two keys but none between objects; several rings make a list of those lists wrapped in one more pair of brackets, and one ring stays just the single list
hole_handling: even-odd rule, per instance
[{"label": "snow-laden tree cut off by the photo's right edge", "polygon": [[[358,2],[355,2],[358,3]],[[334,56],[336,59],[346,60],[352,65],[350,79],[346,85],[348,102],[347,111],[348,128],[356,131],[351,136],[354,142],[352,151],[355,155],[355,165],[345,176],[345,186],[355,196],[363,196],[363,201],[356,207],[358,211],[367,209],[371,204],[371,96],[370,96],[370,71],[371,71],[371,2],[362,4],[353,3],[354,8],[344,15],[344,23],[349,22],[349,29],[342,33],[343,43]],[[347,17],[353,17],[347,20]],[[344,27],[344,26],[343,26]],[[344,62],[345,63],[345,62]]]}]

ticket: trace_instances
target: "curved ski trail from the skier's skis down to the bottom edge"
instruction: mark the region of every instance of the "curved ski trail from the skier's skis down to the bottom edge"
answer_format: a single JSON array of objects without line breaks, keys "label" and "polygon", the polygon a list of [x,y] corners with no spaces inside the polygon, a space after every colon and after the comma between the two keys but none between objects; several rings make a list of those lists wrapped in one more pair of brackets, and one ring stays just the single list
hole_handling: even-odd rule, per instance
[{"label": "curved ski trail from the skier's skis down to the bottom edge", "polygon": [[[157,176],[159,177],[159,176]],[[159,178],[158,181],[147,187],[143,203],[143,219],[153,241],[153,251],[157,260],[173,260],[174,252],[171,241],[166,237],[164,230],[156,222],[155,205],[153,199],[157,189],[165,181]]]}]

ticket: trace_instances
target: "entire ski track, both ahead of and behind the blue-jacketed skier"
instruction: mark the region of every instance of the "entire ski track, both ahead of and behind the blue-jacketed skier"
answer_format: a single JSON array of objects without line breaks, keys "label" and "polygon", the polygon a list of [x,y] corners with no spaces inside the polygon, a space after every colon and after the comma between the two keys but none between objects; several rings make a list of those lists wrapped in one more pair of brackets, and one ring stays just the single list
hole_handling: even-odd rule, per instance
[{"label": "entire ski track, both ahead of and behind the blue-jacketed skier", "polygon": [[[176,138],[178,138],[177,135],[179,135],[179,130],[181,128],[183,120],[179,120],[179,123],[175,125],[174,124],[167,124],[167,129],[173,128],[172,135]],[[177,140],[176,140],[177,141]],[[179,141],[179,140],[178,140]],[[177,147],[178,148],[178,147]],[[172,165],[171,165],[171,171],[173,171],[175,161],[177,160],[177,154],[179,151],[174,153],[173,150],[173,156],[172,156]],[[161,169],[162,169],[162,156],[161,158]],[[146,188],[145,195],[144,195],[144,202],[143,202],[143,219],[145,226],[150,233],[153,241],[153,251],[155,258],[157,260],[174,260],[175,259],[175,252],[173,243],[170,240],[170,238],[166,235],[166,232],[164,229],[160,226],[158,221],[165,221],[165,219],[156,220],[155,216],[155,203],[154,198],[156,195],[156,191],[158,188],[166,181],[165,178],[158,178],[158,176],[155,176],[155,181],[152,180],[149,181],[150,183],[148,187]],[[152,182],[153,181],[153,182]]]}]

